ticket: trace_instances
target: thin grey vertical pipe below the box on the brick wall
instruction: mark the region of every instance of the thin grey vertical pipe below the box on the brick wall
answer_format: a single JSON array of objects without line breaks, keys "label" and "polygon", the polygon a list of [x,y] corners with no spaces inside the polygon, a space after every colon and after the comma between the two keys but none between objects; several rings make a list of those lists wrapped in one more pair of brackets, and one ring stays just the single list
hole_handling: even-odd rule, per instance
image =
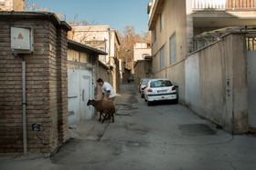
[{"label": "thin grey vertical pipe below the box on the brick wall", "polygon": [[27,155],[27,115],[26,115],[26,61],[22,56],[22,109],[23,109],[23,151]]}]

